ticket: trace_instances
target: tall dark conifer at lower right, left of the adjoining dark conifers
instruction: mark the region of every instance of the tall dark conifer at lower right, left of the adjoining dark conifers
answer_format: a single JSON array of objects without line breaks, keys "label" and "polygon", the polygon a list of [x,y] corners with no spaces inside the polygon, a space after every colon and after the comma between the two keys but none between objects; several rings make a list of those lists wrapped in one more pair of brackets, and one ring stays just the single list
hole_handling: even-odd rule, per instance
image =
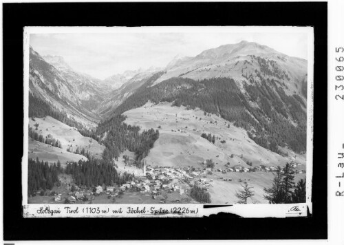
[{"label": "tall dark conifer at lower right, left of the adjoining dark conifers", "polygon": [[276,204],[276,203],[283,203],[283,188],[282,188],[282,181],[283,181],[283,173],[281,167],[277,167],[277,171],[274,174],[274,179],[272,182],[272,187],[269,189],[264,188],[264,192],[268,195],[264,195],[264,199],[268,200],[269,203]]}]

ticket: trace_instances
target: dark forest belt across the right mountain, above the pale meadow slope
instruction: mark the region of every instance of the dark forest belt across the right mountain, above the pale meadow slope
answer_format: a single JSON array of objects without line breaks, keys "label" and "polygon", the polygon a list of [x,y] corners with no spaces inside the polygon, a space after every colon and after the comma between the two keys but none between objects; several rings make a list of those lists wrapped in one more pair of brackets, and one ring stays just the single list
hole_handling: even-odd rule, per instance
[{"label": "dark forest belt across the right mountain, above the pale meadow slope", "polygon": [[[288,96],[278,81],[261,77],[261,85],[245,83],[244,94],[233,79],[211,78],[194,81],[190,78],[170,78],[153,87],[142,85],[116,108],[114,114],[140,107],[151,100],[174,102],[174,105],[219,114],[222,118],[244,127],[257,144],[278,152],[290,147],[295,152],[305,151],[306,116],[303,100]],[[254,102],[254,103],[250,103]],[[254,106],[255,104],[255,106]],[[302,108],[303,107],[303,108]]]}]

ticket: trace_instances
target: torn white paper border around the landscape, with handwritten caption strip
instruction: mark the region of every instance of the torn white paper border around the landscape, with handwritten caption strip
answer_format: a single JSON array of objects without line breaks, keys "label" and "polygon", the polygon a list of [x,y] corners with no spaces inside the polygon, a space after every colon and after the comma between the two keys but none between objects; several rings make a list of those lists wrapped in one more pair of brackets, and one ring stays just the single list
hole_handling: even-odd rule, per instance
[{"label": "torn white paper border around the landscape, with handwritten caption strip", "polygon": [[[118,217],[114,215],[39,215],[36,211],[42,206],[49,206],[50,209],[63,209],[69,204],[28,204],[28,94],[29,94],[29,61],[30,61],[30,34],[43,33],[305,33],[308,35],[308,101],[307,101],[307,153],[306,153],[306,203],[299,204],[301,209],[295,216],[304,217],[307,215],[307,207],[312,213],[312,173],[313,173],[313,115],[314,115],[314,30],[312,27],[297,26],[171,26],[171,27],[25,27],[24,30],[24,144],[22,158],[22,183],[23,183],[23,213],[24,217]],[[215,205],[215,204],[212,204]],[[222,204],[225,205],[225,204]],[[242,217],[286,217],[292,206],[297,204],[233,204],[222,208],[203,209],[203,204],[173,204],[173,206],[199,206],[202,208],[200,215],[184,215],[187,217],[202,217],[203,215],[228,212]],[[73,208],[80,206],[147,206],[147,204],[73,204]],[[166,207],[171,204],[149,204],[148,206]],[[184,217],[173,215],[173,217]],[[138,215],[121,215],[121,217],[138,217]],[[166,217],[166,215],[153,215],[151,217]]]}]

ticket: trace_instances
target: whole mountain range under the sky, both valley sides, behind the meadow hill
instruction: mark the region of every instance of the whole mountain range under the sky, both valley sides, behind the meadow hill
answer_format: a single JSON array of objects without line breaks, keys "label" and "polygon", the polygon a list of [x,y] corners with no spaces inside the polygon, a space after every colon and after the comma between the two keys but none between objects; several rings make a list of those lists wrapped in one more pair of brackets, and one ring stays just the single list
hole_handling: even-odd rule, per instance
[{"label": "whole mountain range under the sky, both valley sides, behind the meadow hill", "polygon": [[302,58],[241,41],[101,81],[76,72],[61,56],[41,56],[30,47],[30,116],[54,111],[106,138],[105,122],[147,102],[200,108],[244,128],[261,147],[305,152],[307,61]]}]

